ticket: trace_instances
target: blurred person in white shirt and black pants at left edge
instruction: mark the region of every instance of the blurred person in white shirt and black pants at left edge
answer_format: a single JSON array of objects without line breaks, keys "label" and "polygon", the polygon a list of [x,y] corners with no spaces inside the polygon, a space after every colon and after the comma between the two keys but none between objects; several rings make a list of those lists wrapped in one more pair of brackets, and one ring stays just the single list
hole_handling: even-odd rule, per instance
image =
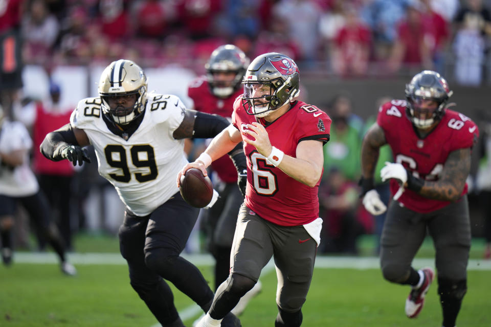
[{"label": "blurred person in white shirt and black pants at left edge", "polygon": [[26,127],[9,121],[0,106],[0,239],[2,260],[12,262],[11,232],[13,216],[20,203],[29,214],[33,227],[55,250],[60,259],[61,271],[75,275],[77,270],[66,261],[65,246],[56,226],[51,223],[48,199],[39,189],[36,176],[29,167],[29,150],[32,140]]}]

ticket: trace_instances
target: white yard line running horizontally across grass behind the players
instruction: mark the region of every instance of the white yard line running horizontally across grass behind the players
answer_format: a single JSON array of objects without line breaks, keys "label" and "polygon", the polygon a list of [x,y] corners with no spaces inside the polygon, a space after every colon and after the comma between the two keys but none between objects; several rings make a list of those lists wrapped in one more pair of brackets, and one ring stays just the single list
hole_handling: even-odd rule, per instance
[{"label": "white yard line running horizontally across grass behind the players", "polygon": [[[182,254],[183,258],[197,266],[212,266],[215,260],[210,254]],[[119,253],[69,253],[68,260],[74,265],[126,265],[126,260]],[[58,264],[58,256],[54,252],[14,252],[15,263],[27,264]],[[270,267],[271,268],[268,268]],[[435,266],[435,259],[414,259],[413,266]],[[380,269],[377,257],[356,256],[317,256],[316,268],[318,269]],[[273,269],[272,261],[263,269]],[[491,260],[471,259],[467,270],[491,270]]]}]

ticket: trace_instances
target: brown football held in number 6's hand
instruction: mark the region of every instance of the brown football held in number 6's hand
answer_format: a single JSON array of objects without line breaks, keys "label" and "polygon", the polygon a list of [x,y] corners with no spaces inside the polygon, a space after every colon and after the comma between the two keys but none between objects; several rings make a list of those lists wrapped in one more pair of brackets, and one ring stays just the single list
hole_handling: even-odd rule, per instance
[{"label": "brown football held in number 6's hand", "polygon": [[179,188],[181,196],[186,202],[196,208],[203,208],[210,203],[213,197],[213,184],[208,176],[196,168],[191,168],[181,176]]}]

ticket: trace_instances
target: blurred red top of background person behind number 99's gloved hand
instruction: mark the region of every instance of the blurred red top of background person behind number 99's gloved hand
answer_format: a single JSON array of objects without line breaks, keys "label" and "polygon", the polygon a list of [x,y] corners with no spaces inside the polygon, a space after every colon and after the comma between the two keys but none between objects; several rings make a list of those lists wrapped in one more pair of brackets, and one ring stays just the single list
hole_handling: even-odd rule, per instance
[{"label": "blurred red top of background person behind number 99's gloved hand", "polygon": [[[36,105],[36,120],[33,127],[34,149],[39,149],[44,136],[55,129],[70,123],[72,111],[55,114],[43,109],[41,103]],[[40,151],[34,152],[34,172],[59,176],[72,176],[74,174],[72,162],[69,160],[51,161],[45,158]]]}]

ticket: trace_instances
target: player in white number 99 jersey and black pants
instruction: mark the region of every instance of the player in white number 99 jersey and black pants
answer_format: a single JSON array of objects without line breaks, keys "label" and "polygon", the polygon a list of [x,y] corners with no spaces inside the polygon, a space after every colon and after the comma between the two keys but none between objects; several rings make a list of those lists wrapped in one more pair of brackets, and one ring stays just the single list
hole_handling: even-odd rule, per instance
[{"label": "player in white number 99 jersey and black pants", "polygon": [[[120,59],[104,69],[99,97],[81,100],[70,124],[48,133],[40,147],[51,160],[81,165],[88,160],[82,147],[94,146],[99,173],[126,205],[119,239],[131,286],[164,327],[184,326],[164,279],[204,312],[213,300],[203,275],[180,256],[199,209],[183,200],[175,176],[187,164],[184,138],[213,137],[228,125],[220,116],[186,109],[176,96],[147,92],[140,66]],[[240,147],[229,154],[245,168]],[[240,321],[231,314],[223,325]]]}]

